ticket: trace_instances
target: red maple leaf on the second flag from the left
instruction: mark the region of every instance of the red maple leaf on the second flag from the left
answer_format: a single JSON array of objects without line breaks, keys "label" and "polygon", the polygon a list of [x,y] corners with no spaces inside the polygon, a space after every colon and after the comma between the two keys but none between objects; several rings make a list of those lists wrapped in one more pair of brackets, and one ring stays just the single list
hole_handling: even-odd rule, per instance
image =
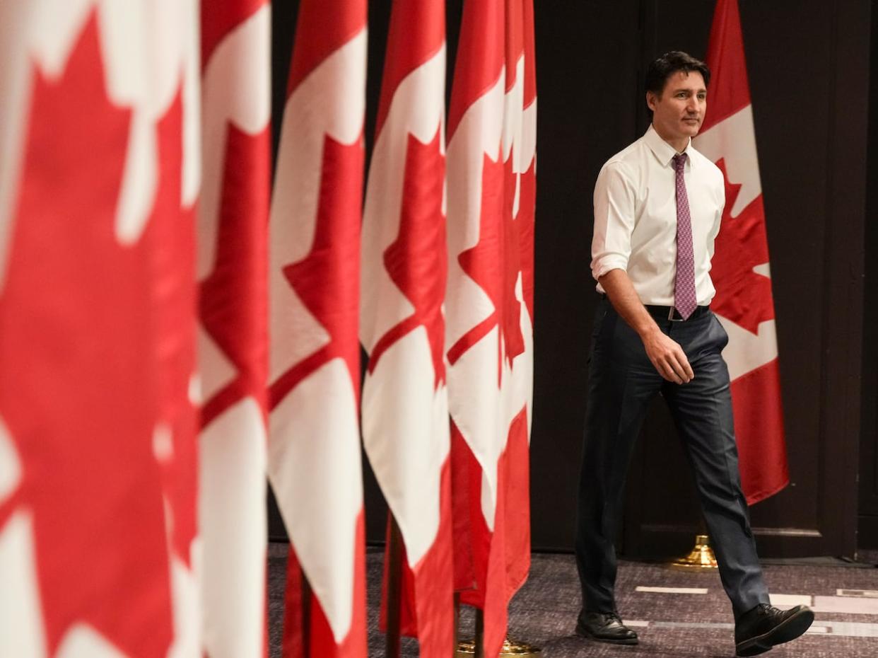
[{"label": "red maple leaf on the second flag from the left", "polygon": [[201,409],[206,426],[242,398],[265,409],[270,129],[249,135],[229,124],[216,262],[202,281],[201,322],[238,374]]}]

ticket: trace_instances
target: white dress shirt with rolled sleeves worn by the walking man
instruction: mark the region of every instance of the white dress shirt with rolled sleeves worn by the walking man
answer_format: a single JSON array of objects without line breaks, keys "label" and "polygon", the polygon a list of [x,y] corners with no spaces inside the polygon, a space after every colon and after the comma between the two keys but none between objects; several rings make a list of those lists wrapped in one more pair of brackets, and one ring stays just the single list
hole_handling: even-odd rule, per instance
[{"label": "white dress shirt with rolled sleeves worn by the walking man", "polygon": [[[725,205],[723,172],[692,148],[683,170],[695,259],[695,297],[713,300],[710,258]],[[677,271],[677,197],[674,148],[653,127],[611,157],[594,184],[592,275],[625,270],[644,304],[673,306]],[[599,283],[599,293],[604,290]]]}]

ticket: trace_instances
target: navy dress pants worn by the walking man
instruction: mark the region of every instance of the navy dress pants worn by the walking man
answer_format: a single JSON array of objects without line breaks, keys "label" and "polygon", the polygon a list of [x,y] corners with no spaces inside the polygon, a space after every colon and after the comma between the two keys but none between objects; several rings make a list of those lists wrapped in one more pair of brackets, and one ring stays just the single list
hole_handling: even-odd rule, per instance
[{"label": "navy dress pants worn by the walking man", "polygon": [[738,474],[729,371],[721,355],[729,336],[709,310],[687,322],[655,320],[686,353],[695,375],[687,384],[662,378],[640,336],[608,300],[594,318],[576,531],[583,609],[615,611],[614,540],[625,475],[646,409],[661,393],[694,470],[720,578],[738,618],[769,601]]}]

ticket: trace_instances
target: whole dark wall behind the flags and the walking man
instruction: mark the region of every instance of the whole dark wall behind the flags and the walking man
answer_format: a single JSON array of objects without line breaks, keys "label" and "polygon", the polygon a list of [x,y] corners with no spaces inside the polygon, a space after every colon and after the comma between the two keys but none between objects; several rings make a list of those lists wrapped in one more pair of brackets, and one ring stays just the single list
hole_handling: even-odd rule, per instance
[{"label": "whole dark wall behind the flags and the walking man", "polygon": [[[273,4],[276,117],[283,109],[295,5],[291,0]],[[460,5],[460,0],[449,3],[450,72]],[[367,145],[389,6],[389,0],[370,3]],[[870,6],[867,0],[740,0],[792,480],[787,490],[752,510],[766,555],[852,554],[856,546]],[[594,179],[610,155],[644,132],[645,64],[672,48],[703,56],[713,7],[713,0],[535,3],[535,548],[572,545],[596,303],[589,271]],[[874,325],[867,323],[867,335],[872,330],[878,338]],[[878,401],[872,390],[863,407],[864,445],[865,412]],[[666,416],[658,404],[632,464],[623,536],[628,554],[679,552],[691,543],[697,524],[693,488]],[[874,415],[868,418],[874,474]],[[871,509],[878,518],[874,475],[872,482]],[[370,474],[366,489],[368,535],[380,540],[385,508]],[[282,532],[277,517],[272,532]]]}]

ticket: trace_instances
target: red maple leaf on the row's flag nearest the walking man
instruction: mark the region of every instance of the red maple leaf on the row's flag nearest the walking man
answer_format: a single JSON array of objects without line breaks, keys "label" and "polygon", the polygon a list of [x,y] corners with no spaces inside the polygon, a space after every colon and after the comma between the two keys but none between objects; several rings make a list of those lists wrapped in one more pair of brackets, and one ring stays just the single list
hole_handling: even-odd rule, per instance
[{"label": "red maple leaf on the row's flag nearest the walking man", "polygon": [[502,359],[511,366],[524,351],[521,321],[522,304],[515,297],[515,282],[521,271],[521,242],[512,207],[516,176],[512,155],[507,163],[494,162],[485,155],[482,168],[482,206],[479,217],[479,242],[462,252],[457,261],[461,268],[485,291],[494,310],[470,329],[449,351],[451,363],[478,343],[491,329],[499,329],[498,386]]}]

